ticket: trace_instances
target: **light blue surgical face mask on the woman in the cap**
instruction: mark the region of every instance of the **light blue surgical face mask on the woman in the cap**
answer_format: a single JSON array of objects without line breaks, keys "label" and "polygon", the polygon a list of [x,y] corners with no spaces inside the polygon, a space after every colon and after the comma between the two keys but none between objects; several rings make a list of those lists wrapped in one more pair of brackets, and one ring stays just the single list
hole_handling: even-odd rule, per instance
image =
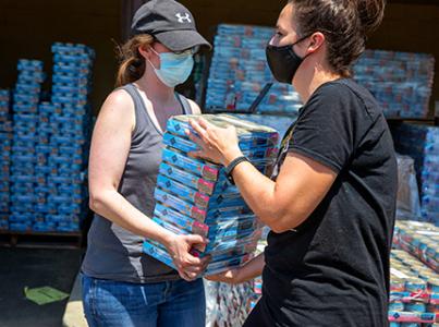
[{"label": "light blue surgical face mask on the woman in the cap", "polygon": [[[153,48],[151,48],[153,49]],[[154,52],[156,52],[153,49]],[[162,52],[157,56],[160,58],[160,69],[156,69],[151,63],[157,77],[169,87],[175,87],[184,83],[194,68],[194,58],[191,51],[183,53]]]}]

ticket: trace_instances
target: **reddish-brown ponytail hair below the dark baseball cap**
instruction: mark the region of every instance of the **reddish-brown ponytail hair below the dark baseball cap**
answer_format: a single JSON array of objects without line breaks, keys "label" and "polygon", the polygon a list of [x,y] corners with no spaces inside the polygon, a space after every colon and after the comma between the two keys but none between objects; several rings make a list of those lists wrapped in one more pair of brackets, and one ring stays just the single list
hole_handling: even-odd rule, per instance
[{"label": "reddish-brown ponytail hair below the dark baseball cap", "polygon": [[119,71],[115,86],[120,87],[137,81],[145,72],[145,58],[138,52],[138,47],[154,43],[154,37],[148,34],[139,34],[129,39],[119,50]]}]

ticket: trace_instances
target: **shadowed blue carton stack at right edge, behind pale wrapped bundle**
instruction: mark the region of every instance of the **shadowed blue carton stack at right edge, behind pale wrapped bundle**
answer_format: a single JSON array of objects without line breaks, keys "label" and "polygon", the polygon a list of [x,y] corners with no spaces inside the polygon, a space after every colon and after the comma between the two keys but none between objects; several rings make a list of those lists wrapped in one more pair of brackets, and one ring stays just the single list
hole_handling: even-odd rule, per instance
[{"label": "shadowed blue carton stack at right edge, behind pale wrapped bundle", "polygon": [[392,130],[395,148],[415,160],[423,221],[439,225],[439,128],[403,123]]}]

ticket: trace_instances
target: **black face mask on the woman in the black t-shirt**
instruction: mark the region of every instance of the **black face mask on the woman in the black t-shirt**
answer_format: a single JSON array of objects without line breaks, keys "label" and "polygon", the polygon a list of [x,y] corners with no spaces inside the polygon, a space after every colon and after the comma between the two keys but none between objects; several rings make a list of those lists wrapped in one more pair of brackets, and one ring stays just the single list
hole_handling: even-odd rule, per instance
[{"label": "black face mask on the woman in the black t-shirt", "polygon": [[284,47],[267,45],[266,55],[268,65],[270,66],[272,75],[278,82],[291,84],[293,81],[295,72],[306,58],[306,56],[304,58],[298,57],[294,52],[293,47],[307,37],[309,37],[309,35],[298,39],[292,45]]}]

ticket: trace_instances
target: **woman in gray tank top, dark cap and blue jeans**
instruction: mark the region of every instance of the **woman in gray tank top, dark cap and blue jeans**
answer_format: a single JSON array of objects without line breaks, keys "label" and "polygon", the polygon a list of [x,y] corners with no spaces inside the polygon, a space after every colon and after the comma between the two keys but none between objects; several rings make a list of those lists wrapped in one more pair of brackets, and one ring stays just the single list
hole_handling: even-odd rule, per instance
[{"label": "woman in gray tank top, dark cap and blue jeans", "polygon": [[[84,311],[90,326],[204,326],[197,277],[207,263],[188,252],[206,240],[175,235],[150,218],[167,120],[199,113],[174,87],[190,76],[195,50],[210,45],[173,0],[141,7],[132,32],[121,49],[119,88],[102,105],[92,141],[96,214],[82,266]],[[168,249],[178,271],[143,253],[146,238]]]}]

